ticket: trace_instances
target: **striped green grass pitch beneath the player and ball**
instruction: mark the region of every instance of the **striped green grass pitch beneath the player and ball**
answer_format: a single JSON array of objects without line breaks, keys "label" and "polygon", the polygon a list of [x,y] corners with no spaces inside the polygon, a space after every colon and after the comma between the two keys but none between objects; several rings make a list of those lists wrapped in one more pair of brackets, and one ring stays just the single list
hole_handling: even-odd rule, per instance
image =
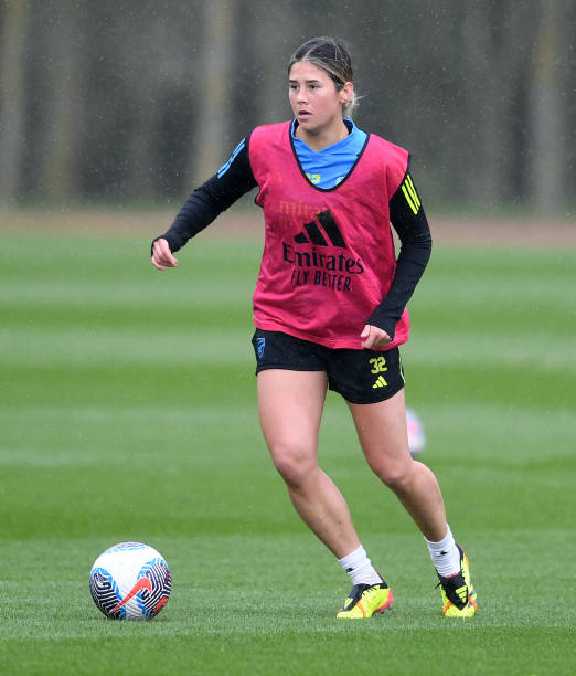
[{"label": "striped green grass pitch beneath the player and ball", "polygon": [[[479,595],[440,615],[415,526],[330,394],[322,466],[394,589],[349,583],[295,515],[260,437],[250,296],[260,244],[7,233],[0,251],[2,674],[573,674],[576,252],[437,245],[413,302],[407,401]],[[159,549],[166,610],[107,621],[96,557]]]}]

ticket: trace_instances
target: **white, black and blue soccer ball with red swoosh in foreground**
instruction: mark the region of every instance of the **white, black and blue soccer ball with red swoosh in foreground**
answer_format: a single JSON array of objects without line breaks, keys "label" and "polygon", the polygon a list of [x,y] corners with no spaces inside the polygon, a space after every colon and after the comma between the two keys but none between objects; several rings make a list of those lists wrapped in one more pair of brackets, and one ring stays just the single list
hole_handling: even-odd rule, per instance
[{"label": "white, black and blue soccer ball with red swoosh in foreground", "polygon": [[110,547],[90,570],[94,603],[113,620],[150,620],[164,608],[171,590],[163,557],[141,542]]}]

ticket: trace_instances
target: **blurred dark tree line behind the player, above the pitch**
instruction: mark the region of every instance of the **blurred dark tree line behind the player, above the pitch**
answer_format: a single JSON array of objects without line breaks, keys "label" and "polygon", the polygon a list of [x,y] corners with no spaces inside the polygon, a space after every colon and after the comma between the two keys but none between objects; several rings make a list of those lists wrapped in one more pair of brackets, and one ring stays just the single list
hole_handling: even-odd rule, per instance
[{"label": "blurred dark tree line behind the player, above the pitch", "polygon": [[0,0],[0,201],[181,200],[289,117],[290,54],[332,34],[426,202],[562,213],[575,25],[570,0]]}]

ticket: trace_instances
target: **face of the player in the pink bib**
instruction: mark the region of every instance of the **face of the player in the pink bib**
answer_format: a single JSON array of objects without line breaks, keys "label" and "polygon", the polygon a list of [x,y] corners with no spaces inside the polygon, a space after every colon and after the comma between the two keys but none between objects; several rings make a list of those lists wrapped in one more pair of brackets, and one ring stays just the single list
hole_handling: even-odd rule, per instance
[{"label": "face of the player in the pink bib", "polygon": [[342,125],[342,104],[351,94],[352,83],[338,91],[323,68],[297,61],[290,68],[288,85],[290,106],[305,134],[318,135]]}]

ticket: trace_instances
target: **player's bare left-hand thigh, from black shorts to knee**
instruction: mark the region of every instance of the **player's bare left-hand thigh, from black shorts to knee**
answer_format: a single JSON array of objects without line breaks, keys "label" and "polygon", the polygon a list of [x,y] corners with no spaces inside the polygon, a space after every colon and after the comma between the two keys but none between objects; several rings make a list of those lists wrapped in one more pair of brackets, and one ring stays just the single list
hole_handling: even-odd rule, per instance
[{"label": "player's bare left-hand thigh, from black shorts to knee", "polygon": [[287,454],[316,460],[326,372],[266,369],[257,382],[260,425],[273,460]]}]

